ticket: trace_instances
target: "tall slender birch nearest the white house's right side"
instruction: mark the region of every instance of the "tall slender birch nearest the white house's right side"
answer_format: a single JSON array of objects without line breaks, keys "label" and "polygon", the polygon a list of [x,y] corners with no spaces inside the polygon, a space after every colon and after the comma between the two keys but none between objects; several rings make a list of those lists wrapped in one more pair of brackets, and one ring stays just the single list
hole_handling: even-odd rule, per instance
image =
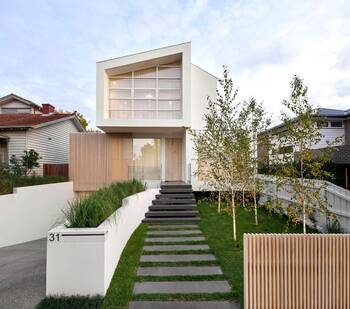
[{"label": "tall slender birch nearest the white house's right side", "polygon": [[[243,110],[236,102],[237,89],[224,67],[223,79],[219,81],[216,101],[208,100],[205,127],[191,131],[198,159],[198,172],[219,190],[231,193],[232,234],[236,232],[236,193],[245,188],[249,136],[244,130]],[[204,178],[203,177],[203,178]]]}]

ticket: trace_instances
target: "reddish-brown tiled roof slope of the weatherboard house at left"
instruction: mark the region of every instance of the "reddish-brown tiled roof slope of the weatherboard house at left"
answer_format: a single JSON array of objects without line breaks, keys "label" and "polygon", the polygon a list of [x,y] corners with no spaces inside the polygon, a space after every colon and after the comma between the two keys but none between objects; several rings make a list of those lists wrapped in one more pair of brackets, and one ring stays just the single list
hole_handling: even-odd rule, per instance
[{"label": "reddish-brown tiled roof slope of the weatherboard house at left", "polygon": [[54,120],[72,117],[73,114],[0,114],[0,127],[33,127]]}]

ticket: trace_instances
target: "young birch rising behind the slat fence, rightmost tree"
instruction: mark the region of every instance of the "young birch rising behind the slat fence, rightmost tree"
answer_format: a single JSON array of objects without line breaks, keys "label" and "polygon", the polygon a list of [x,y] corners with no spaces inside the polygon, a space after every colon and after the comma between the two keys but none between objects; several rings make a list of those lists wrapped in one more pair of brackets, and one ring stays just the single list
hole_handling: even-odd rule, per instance
[{"label": "young birch rising behind the slat fence, rightmost tree", "polygon": [[300,77],[294,76],[290,87],[289,98],[282,102],[289,113],[281,114],[286,131],[279,134],[276,156],[283,167],[279,169],[283,186],[291,188],[293,203],[287,208],[288,216],[295,223],[301,221],[306,233],[306,221],[315,208],[329,215],[323,186],[315,186],[313,180],[306,178],[307,175],[317,179],[329,177],[323,169],[327,156],[316,156],[312,150],[323,137],[320,128],[324,120],[309,103],[308,88]]}]

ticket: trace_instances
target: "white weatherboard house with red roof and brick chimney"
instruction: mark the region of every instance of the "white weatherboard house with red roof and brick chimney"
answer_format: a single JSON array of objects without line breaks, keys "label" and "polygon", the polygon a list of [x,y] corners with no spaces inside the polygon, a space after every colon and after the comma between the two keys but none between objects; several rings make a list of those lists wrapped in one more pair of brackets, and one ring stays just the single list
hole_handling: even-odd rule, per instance
[{"label": "white weatherboard house with red roof and brick chimney", "polygon": [[0,98],[1,163],[34,149],[41,157],[35,172],[41,175],[43,164],[68,163],[69,134],[82,131],[74,114],[56,112],[50,104],[39,106],[15,94]]}]

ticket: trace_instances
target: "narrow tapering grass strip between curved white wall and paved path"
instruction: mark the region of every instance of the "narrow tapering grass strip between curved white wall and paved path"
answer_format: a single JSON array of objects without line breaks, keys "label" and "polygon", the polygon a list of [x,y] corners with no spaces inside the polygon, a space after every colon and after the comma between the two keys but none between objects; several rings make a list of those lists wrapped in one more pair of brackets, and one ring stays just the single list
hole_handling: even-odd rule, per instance
[{"label": "narrow tapering grass strip between curved white wall and paved path", "polygon": [[146,232],[147,225],[141,224],[129,239],[114,272],[102,308],[127,308],[128,302],[132,299],[132,291],[137,278],[136,273]]}]

